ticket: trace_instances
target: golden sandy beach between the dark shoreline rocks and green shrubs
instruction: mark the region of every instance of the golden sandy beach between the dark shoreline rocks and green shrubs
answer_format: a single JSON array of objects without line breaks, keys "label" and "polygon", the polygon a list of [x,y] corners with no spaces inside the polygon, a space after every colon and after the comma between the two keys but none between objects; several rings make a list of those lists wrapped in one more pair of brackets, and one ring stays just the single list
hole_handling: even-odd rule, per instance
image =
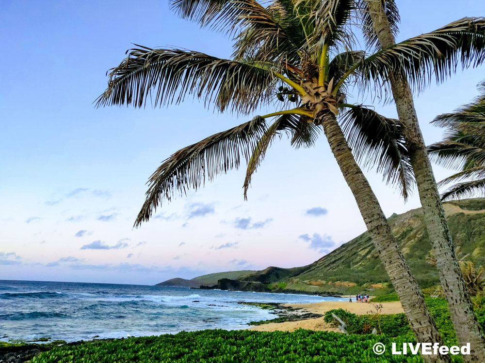
[{"label": "golden sandy beach between the dark shoreline rocks and green shrubs", "polygon": [[[383,309],[382,314],[398,314],[403,313],[403,307],[401,302],[381,302]],[[351,313],[358,315],[368,314],[372,310],[372,305],[368,303],[360,302],[341,302],[341,301],[325,301],[325,302],[312,302],[305,304],[285,304],[296,309],[301,309],[302,313],[316,313],[325,314],[325,312],[333,309],[345,309]],[[309,329],[309,330],[324,330],[330,332],[340,332],[339,328],[332,324],[327,324],[322,318],[306,319],[299,321],[286,321],[283,323],[269,323],[258,325],[249,328],[249,330],[257,330],[260,332],[273,332],[275,330],[281,330],[285,332],[292,332],[296,329]]]}]

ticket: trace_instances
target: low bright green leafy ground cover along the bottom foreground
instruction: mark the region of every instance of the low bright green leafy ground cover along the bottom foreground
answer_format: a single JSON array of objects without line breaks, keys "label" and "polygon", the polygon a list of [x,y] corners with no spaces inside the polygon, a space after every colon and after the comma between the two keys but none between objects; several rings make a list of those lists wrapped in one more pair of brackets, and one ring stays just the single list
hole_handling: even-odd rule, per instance
[{"label": "low bright green leafy ground cover along the bottom foreground", "polygon": [[422,362],[419,356],[393,356],[390,349],[377,356],[372,346],[381,342],[414,341],[384,335],[343,335],[332,332],[255,332],[206,330],[161,336],[97,341],[44,352],[32,363],[377,363]]}]

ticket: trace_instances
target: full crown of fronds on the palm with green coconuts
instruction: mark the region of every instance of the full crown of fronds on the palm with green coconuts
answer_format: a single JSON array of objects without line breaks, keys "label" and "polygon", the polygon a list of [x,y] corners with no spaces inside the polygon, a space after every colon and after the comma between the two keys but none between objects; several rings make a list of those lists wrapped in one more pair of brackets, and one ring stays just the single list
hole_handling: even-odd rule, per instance
[{"label": "full crown of fronds on the palm with green coconuts", "polygon": [[[397,11],[393,1],[387,3],[394,24]],[[403,126],[370,108],[346,103],[347,92],[354,86],[385,90],[390,72],[407,77],[420,90],[432,75],[441,81],[457,63],[475,65],[485,57],[483,18],[461,19],[372,54],[354,50],[353,19],[359,19],[369,48],[376,40],[359,0],[273,0],[267,5],[255,0],[172,0],[171,6],[183,18],[232,36],[231,59],[138,46],[111,70],[98,106],[141,107],[148,98],[163,106],[193,95],[220,112],[249,115],[260,106],[282,109],[210,136],[162,162],[148,181],[135,226],[147,221],[162,199],[239,167],[242,157],[248,164],[246,196],[251,175],[276,135],[286,132],[293,146],[310,146],[329,115],[339,115],[356,158],[377,164],[386,181],[400,185],[406,197],[413,176]]]}]

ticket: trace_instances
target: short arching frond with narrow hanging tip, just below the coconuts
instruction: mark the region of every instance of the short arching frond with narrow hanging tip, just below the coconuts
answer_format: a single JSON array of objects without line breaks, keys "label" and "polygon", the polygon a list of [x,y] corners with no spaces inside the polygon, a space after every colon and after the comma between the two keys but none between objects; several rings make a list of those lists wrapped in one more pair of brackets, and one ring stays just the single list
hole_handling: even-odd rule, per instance
[{"label": "short arching frond with narrow hanging tip, just below the coconuts", "polygon": [[249,159],[244,179],[244,199],[247,200],[247,190],[251,184],[251,177],[264,159],[266,151],[276,136],[282,132],[291,137],[291,145],[295,148],[310,147],[320,133],[320,128],[300,115],[282,115],[268,128],[268,131],[261,137],[256,148]]}]

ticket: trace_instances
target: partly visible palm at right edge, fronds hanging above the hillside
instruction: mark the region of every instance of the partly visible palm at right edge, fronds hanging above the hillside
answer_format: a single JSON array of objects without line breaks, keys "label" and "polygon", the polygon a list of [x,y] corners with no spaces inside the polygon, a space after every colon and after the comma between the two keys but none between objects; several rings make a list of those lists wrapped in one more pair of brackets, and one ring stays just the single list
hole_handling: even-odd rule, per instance
[{"label": "partly visible palm at right edge, fronds hanging above the hillside", "polygon": [[469,197],[477,193],[485,196],[485,81],[479,84],[479,89],[481,95],[469,105],[439,115],[433,121],[447,130],[443,141],[428,146],[431,159],[441,166],[460,169],[438,185],[472,179],[448,188],[441,195],[442,200]]}]

